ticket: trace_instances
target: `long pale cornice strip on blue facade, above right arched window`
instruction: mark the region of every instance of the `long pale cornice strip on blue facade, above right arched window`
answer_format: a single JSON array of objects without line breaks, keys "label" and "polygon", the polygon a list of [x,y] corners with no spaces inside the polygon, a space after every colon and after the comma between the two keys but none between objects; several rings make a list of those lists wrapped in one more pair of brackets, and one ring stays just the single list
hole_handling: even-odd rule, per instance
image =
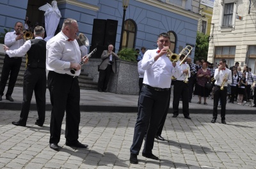
[{"label": "long pale cornice strip on blue facade, above right arched window", "polygon": [[174,6],[173,4],[165,3],[163,5],[163,2],[156,1],[156,0],[136,0],[136,1],[148,4],[151,6],[155,6],[157,8],[161,8],[166,11],[171,11],[173,13],[177,13],[177,14],[183,15],[185,17],[193,18],[195,20],[198,20],[198,18],[201,18],[201,15],[199,15],[198,13],[193,13],[192,11],[184,10],[180,7]]}]

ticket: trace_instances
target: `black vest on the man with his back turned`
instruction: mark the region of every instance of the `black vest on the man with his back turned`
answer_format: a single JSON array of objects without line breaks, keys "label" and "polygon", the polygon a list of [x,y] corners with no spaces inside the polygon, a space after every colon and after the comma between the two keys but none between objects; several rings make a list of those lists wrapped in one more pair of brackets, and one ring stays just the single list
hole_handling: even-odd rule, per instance
[{"label": "black vest on the man with his back turned", "polygon": [[31,41],[31,48],[27,52],[27,64],[29,68],[45,68],[46,41],[34,39]]}]

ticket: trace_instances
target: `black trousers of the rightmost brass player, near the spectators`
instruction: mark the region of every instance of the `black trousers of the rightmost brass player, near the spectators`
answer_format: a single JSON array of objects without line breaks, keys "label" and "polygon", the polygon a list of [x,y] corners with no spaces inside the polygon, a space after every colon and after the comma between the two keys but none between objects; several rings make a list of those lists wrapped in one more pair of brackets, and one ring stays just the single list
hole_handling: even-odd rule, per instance
[{"label": "black trousers of the rightmost brass player, near the spectators", "polygon": [[221,101],[221,110],[220,110],[221,120],[225,120],[226,104],[227,104],[227,87],[224,87],[224,89],[221,90],[219,85],[215,85],[213,92],[214,92],[214,99],[213,99],[212,119],[217,119],[218,103],[219,103],[219,99],[220,99],[220,101]]}]

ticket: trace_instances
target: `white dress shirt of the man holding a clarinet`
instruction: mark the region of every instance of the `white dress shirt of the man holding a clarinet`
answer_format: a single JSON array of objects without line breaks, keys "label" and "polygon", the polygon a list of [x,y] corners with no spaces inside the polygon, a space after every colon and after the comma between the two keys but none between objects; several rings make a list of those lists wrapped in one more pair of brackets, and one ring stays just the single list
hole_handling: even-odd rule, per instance
[{"label": "white dress shirt of the man holding a clarinet", "polygon": [[70,72],[71,62],[81,62],[81,51],[77,41],[68,41],[68,37],[61,31],[46,43],[46,69],[56,73],[79,76],[81,70],[76,71],[75,74]]}]

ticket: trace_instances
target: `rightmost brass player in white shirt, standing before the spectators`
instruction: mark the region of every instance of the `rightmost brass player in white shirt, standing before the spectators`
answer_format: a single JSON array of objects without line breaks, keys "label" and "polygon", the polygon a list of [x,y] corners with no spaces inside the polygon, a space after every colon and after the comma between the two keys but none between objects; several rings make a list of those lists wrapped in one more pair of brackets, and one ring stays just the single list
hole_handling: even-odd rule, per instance
[{"label": "rightmost brass player in white shirt, standing before the spectators", "polygon": [[221,59],[220,66],[214,72],[215,87],[213,100],[212,123],[216,122],[218,116],[218,102],[221,100],[221,123],[227,124],[225,121],[226,104],[227,104],[227,85],[232,82],[232,73],[226,68],[226,60]]}]

